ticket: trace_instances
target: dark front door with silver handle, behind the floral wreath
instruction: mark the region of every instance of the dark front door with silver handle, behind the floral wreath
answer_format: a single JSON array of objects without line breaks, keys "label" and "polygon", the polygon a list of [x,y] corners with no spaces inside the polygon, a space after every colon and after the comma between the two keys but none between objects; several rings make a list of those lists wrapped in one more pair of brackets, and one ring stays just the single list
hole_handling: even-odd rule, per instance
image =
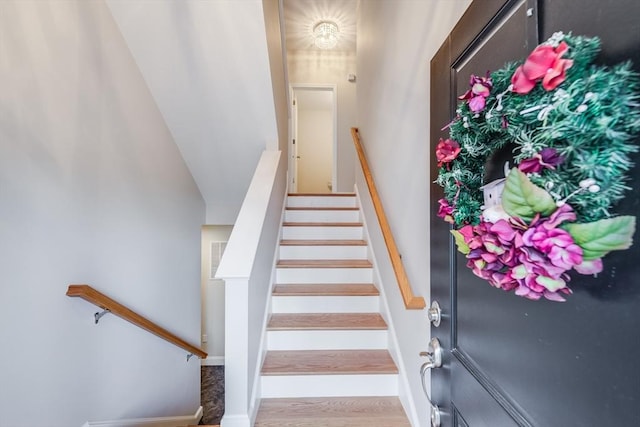
[{"label": "dark front door with silver handle, behind the floral wreath", "polygon": [[[638,0],[475,0],[432,60],[432,153],[470,74],[526,58],[556,31],[598,36],[600,64],[640,70],[639,20]],[[435,180],[435,156],[431,171]],[[636,167],[616,213],[640,214],[639,177]],[[573,275],[566,302],[529,301],[465,267],[436,216],[441,197],[432,185],[431,296],[444,314],[432,336],[445,357],[431,397],[442,425],[640,426],[640,243],[609,254],[597,278]]]}]

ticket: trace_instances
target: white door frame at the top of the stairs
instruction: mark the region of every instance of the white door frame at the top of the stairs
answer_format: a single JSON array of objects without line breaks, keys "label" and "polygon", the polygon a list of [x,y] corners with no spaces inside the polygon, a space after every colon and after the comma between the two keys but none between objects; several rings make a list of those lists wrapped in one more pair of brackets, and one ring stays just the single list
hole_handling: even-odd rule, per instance
[{"label": "white door frame at the top of the stairs", "polygon": [[[294,99],[296,99],[296,91],[326,91],[331,92],[331,120],[333,121],[332,132],[332,164],[331,164],[331,192],[335,193],[338,186],[338,85],[336,84],[320,84],[320,83],[290,83],[289,84],[289,117],[291,122],[289,125],[289,189],[291,192],[297,191],[297,172],[298,167],[295,164],[297,158],[297,150],[294,146],[294,139],[297,138],[297,114],[294,114]],[[296,106],[297,108],[297,106]]]}]

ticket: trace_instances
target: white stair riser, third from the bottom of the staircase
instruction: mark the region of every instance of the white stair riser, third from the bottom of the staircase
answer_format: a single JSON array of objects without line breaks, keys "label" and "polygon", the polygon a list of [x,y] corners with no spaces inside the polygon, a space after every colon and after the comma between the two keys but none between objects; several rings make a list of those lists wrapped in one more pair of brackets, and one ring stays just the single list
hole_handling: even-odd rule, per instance
[{"label": "white stair riser, third from the bottom of the staircase", "polygon": [[272,296],[272,313],[377,313],[379,296]]}]

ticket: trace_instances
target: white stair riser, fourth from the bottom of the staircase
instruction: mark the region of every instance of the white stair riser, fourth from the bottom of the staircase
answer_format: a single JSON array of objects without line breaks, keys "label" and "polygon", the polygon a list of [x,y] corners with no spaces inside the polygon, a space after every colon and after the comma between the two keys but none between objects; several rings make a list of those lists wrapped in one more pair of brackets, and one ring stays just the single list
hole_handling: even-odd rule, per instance
[{"label": "white stair riser, fourth from the bottom of the staircase", "polygon": [[277,268],[276,283],[371,283],[371,268]]}]

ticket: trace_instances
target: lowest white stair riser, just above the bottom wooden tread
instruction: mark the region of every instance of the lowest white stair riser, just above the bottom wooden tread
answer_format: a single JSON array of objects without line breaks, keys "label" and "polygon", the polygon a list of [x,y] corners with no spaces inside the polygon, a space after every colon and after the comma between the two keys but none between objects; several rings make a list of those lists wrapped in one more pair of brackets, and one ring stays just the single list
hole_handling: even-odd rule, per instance
[{"label": "lowest white stair riser, just above the bottom wooden tread", "polygon": [[263,375],[262,397],[397,396],[398,375]]}]

